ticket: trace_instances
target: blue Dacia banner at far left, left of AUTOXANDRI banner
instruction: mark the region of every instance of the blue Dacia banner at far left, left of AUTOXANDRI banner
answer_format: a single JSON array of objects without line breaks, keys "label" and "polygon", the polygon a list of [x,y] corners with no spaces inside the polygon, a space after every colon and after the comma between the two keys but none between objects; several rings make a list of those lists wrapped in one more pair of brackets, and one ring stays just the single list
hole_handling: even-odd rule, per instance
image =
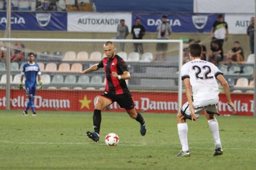
[{"label": "blue Dacia banner at far left, left of AUTOXANDRI banner", "polygon": [[[0,12],[0,30],[6,29],[6,12]],[[67,31],[66,12],[12,12],[12,30]]]}]

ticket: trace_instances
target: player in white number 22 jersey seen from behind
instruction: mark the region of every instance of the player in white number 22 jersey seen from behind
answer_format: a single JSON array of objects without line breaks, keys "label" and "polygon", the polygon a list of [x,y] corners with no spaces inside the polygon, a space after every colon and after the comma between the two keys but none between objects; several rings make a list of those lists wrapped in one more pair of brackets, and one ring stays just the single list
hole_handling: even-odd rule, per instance
[{"label": "player in white number 22 jersey seen from behind", "polygon": [[213,63],[200,60],[202,46],[200,44],[189,45],[190,62],[181,68],[182,80],[184,81],[187,101],[177,114],[177,129],[181,140],[182,150],[177,156],[190,156],[189,145],[187,142],[188,127],[186,119],[197,120],[203,110],[208,119],[211,134],[215,142],[215,152],[213,156],[223,154],[221,147],[218,121],[215,114],[219,115],[217,105],[219,102],[219,89],[216,80],[220,81],[228,100],[228,105],[236,114],[234,104],[231,100],[229,86],[223,77],[223,73]]}]

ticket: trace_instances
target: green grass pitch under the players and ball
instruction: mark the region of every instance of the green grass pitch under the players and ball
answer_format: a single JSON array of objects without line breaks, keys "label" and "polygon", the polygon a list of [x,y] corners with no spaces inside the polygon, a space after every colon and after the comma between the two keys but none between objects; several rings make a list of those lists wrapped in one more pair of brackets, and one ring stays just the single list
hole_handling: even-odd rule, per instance
[{"label": "green grass pitch under the players and ball", "polygon": [[[223,155],[213,157],[214,142],[207,120],[188,122],[189,158],[181,150],[176,114],[142,113],[146,136],[127,113],[102,113],[100,142],[85,136],[93,113],[20,110],[0,111],[0,169],[255,169],[256,118],[218,116]],[[105,145],[109,132],[116,147]]]}]

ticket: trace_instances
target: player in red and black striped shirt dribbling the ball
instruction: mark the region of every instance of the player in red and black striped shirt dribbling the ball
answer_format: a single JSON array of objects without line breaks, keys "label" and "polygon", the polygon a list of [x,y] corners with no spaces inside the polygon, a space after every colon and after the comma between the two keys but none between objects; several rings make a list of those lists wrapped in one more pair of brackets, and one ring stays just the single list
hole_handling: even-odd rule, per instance
[{"label": "player in red and black striped shirt dribbling the ball", "polygon": [[108,107],[113,102],[117,102],[121,108],[126,109],[131,118],[140,123],[140,134],[145,136],[146,126],[145,121],[140,113],[134,108],[134,100],[132,94],[126,85],[126,79],[130,79],[130,73],[127,69],[126,62],[114,54],[114,44],[111,41],[107,41],[104,44],[104,52],[107,57],[100,61],[100,63],[92,65],[87,70],[80,71],[80,73],[87,74],[92,71],[104,68],[106,76],[105,92],[98,97],[95,110],[93,113],[93,128],[94,132],[87,132],[87,136],[94,140],[99,141],[100,124],[101,124],[101,110]]}]

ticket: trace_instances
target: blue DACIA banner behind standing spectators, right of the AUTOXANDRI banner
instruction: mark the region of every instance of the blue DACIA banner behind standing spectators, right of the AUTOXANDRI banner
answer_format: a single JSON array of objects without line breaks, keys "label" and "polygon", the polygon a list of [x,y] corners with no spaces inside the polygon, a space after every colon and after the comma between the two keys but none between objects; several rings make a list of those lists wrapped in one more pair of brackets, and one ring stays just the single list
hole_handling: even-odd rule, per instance
[{"label": "blue DACIA banner behind standing spectators, right of the AUTOXANDRI banner", "polygon": [[210,33],[211,26],[217,20],[217,14],[132,14],[132,24],[135,18],[140,18],[147,32],[156,32],[161,18],[166,15],[167,22],[174,33]]}]

